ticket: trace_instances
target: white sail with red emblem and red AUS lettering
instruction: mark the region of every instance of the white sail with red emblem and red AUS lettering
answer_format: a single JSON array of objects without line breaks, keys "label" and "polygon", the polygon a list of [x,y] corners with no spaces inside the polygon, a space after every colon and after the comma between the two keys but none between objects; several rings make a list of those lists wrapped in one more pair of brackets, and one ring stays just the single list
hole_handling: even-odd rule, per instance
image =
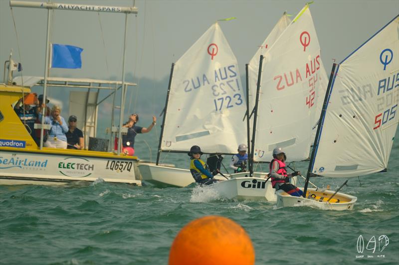
[{"label": "white sail with red emblem and red AUS lettering", "polygon": [[309,157],[320,66],[319,41],[306,5],[263,60],[254,161],[270,161],[276,146],[290,161]]}]

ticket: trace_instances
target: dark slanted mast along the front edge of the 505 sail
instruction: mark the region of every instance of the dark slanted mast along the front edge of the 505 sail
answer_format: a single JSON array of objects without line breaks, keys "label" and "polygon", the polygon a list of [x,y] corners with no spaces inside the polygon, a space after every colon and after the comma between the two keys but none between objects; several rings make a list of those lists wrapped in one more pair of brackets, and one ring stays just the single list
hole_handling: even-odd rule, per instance
[{"label": "dark slanted mast along the front edge of the 505 sail", "polygon": [[328,81],[326,95],[324,96],[323,108],[321,109],[319,124],[317,125],[315,142],[313,144],[312,155],[310,157],[308,173],[306,174],[305,186],[303,188],[303,196],[304,197],[306,197],[306,191],[308,189],[308,183],[309,183],[310,174],[312,173],[313,165],[314,165],[314,162],[315,162],[316,151],[317,151],[317,147],[318,147],[319,140],[320,140],[319,139],[320,138],[320,132],[323,129],[324,117],[326,116],[328,99],[330,98],[330,95],[331,95],[331,90],[332,90],[331,87],[332,87],[332,83],[333,83],[334,76],[335,76],[335,68],[336,68],[336,66],[337,66],[337,64],[334,63],[333,64],[333,68],[331,69],[331,75],[330,75],[330,79]]}]

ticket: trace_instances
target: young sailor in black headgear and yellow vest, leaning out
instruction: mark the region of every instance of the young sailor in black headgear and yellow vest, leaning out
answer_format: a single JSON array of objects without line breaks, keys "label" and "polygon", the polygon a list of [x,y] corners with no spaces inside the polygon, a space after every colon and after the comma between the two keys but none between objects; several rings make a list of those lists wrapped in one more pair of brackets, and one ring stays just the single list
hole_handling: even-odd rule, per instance
[{"label": "young sailor in black headgear and yellow vest, leaning out", "polygon": [[190,152],[187,154],[191,159],[190,172],[197,183],[202,185],[210,185],[218,181],[217,179],[214,179],[213,176],[217,175],[219,171],[215,170],[213,173],[209,172],[205,162],[200,159],[203,153],[201,152],[201,148],[198,145],[193,145],[190,149]]}]

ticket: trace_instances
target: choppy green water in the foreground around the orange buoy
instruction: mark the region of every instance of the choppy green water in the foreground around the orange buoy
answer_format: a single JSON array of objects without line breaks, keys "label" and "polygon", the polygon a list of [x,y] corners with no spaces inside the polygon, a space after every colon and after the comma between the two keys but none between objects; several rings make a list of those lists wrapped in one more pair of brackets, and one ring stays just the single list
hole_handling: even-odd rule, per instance
[{"label": "choppy green water in the foreground around the orange buoy", "polygon": [[[178,163],[183,167],[187,160],[181,155]],[[297,163],[296,168],[305,172],[307,163]],[[353,211],[343,212],[226,201],[211,188],[195,186],[159,189],[101,180],[0,186],[0,263],[167,264],[172,241],[184,225],[205,215],[221,215],[246,230],[257,265],[399,264],[398,172],[396,140],[388,173],[360,181],[350,178],[342,192],[357,196],[358,202]],[[335,189],[345,179],[311,180]],[[360,235],[363,254],[357,251]],[[382,235],[389,239],[384,250]],[[374,253],[374,243],[368,245],[373,237]]]}]

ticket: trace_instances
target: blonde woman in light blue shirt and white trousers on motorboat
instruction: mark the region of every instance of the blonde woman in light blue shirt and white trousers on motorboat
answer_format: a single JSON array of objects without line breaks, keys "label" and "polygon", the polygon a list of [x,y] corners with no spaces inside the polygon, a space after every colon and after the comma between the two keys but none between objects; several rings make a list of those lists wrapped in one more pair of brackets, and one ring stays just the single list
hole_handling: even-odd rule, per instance
[{"label": "blonde woman in light blue shirt and white trousers on motorboat", "polygon": [[50,116],[44,117],[44,123],[51,125],[44,147],[66,149],[68,145],[65,135],[68,131],[68,126],[66,125],[65,119],[61,117],[60,114],[61,108],[54,105],[51,108]]}]

